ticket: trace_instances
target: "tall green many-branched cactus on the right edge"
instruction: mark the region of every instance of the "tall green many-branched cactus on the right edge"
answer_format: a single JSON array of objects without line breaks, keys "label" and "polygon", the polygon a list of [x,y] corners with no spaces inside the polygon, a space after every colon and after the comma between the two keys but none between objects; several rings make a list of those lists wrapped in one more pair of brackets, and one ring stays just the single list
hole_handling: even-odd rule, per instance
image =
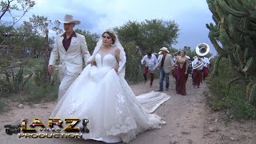
[{"label": "tall green many-branched cactus on the right edge", "polygon": [[[207,0],[213,23],[206,24],[220,58],[230,58],[238,78],[245,80],[248,101],[256,106],[256,0]],[[218,42],[222,43],[219,46]],[[232,80],[234,82],[234,80]]]}]

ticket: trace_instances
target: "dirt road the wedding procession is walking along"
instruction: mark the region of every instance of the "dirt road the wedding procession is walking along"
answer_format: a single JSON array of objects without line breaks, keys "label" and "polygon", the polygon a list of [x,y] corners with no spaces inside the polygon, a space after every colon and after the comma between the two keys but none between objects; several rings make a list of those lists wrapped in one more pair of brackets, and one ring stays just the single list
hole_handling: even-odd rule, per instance
[{"label": "dirt road the wedding procession is walking along", "polygon": [[[136,95],[158,90],[158,80],[154,81],[154,86],[149,83],[140,83],[131,86]],[[130,144],[221,144],[221,143],[245,143],[256,142],[256,122],[230,122],[227,126],[219,118],[219,114],[210,111],[206,106],[207,93],[206,84],[200,88],[191,85],[191,78],[186,84],[187,95],[182,96],[174,91],[174,79],[170,78],[170,90],[164,91],[171,98],[164,102],[155,111],[156,114],[164,118],[167,122],[158,130],[148,130],[132,141]],[[32,107],[14,108],[0,117],[0,143],[2,144],[41,144],[41,143],[74,143],[74,144],[99,144],[103,142],[68,140],[68,139],[19,139],[17,135],[7,135],[3,125],[17,122],[21,118],[30,120],[37,117],[47,119],[56,103],[38,104]]]}]

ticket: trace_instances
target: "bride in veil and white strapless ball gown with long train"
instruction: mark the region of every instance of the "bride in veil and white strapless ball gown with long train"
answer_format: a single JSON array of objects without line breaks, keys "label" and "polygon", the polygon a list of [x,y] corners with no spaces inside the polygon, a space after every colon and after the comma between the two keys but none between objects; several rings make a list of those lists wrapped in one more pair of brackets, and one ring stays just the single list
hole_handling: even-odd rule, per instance
[{"label": "bride in veil and white strapless ball gown with long train", "polygon": [[103,142],[129,142],[166,123],[149,112],[170,97],[158,92],[135,97],[124,79],[126,54],[114,31],[103,32],[89,63],[50,118],[87,118],[90,133],[82,138]]}]

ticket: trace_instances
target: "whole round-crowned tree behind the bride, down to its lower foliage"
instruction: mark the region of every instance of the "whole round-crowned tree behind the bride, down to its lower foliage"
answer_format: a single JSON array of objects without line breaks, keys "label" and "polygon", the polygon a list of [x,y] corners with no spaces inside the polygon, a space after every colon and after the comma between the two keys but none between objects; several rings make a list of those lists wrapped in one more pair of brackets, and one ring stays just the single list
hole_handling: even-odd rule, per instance
[{"label": "whole round-crowned tree behind the bride, down to its lower foliage", "polygon": [[159,19],[144,22],[126,22],[115,27],[122,46],[126,50],[126,78],[138,81],[142,75],[140,60],[143,54],[158,52],[163,46],[171,47],[178,38],[178,25],[174,21]]}]

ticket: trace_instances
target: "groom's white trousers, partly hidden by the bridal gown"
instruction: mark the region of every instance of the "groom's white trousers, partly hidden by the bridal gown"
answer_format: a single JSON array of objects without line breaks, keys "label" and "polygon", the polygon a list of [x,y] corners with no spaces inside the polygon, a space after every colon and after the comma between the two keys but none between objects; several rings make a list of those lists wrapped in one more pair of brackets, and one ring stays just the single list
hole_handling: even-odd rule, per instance
[{"label": "groom's white trousers, partly hidden by the bridal gown", "polygon": [[66,90],[69,89],[74,80],[78,78],[78,75],[77,73],[70,73],[68,70],[65,70],[64,74],[59,74],[61,84],[58,89],[58,101],[66,93]]}]

